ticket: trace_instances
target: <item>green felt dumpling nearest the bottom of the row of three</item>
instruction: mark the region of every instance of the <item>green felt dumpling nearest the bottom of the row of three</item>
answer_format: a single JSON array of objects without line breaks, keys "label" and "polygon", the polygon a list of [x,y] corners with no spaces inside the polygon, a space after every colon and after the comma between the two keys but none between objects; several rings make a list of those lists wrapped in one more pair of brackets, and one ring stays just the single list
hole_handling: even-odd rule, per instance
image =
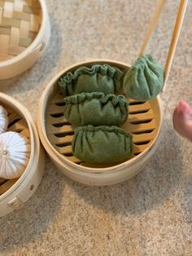
[{"label": "green felt dumpling nearest the bottom of the row of three", "polygon": [[132,152],[132,136],[116,126],[78,127],[72,139],[73,155],[89,163],[120,163]]}]

